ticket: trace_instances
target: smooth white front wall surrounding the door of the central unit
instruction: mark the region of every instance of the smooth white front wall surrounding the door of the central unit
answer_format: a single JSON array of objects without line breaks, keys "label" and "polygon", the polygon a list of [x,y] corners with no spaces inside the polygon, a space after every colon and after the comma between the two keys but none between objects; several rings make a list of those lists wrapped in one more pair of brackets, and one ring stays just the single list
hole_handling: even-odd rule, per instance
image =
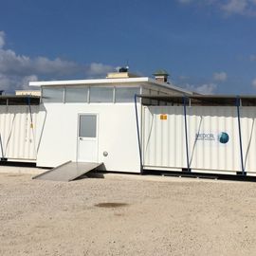
[{"label": "smooth white front wall surrounding the door of the central unit", "polygon": [[41,111],[37,166],[76,161],[78,115],[92,113],[99,115],[98,161],[107,171],[140,171],[134,103],[45,103]]}]

